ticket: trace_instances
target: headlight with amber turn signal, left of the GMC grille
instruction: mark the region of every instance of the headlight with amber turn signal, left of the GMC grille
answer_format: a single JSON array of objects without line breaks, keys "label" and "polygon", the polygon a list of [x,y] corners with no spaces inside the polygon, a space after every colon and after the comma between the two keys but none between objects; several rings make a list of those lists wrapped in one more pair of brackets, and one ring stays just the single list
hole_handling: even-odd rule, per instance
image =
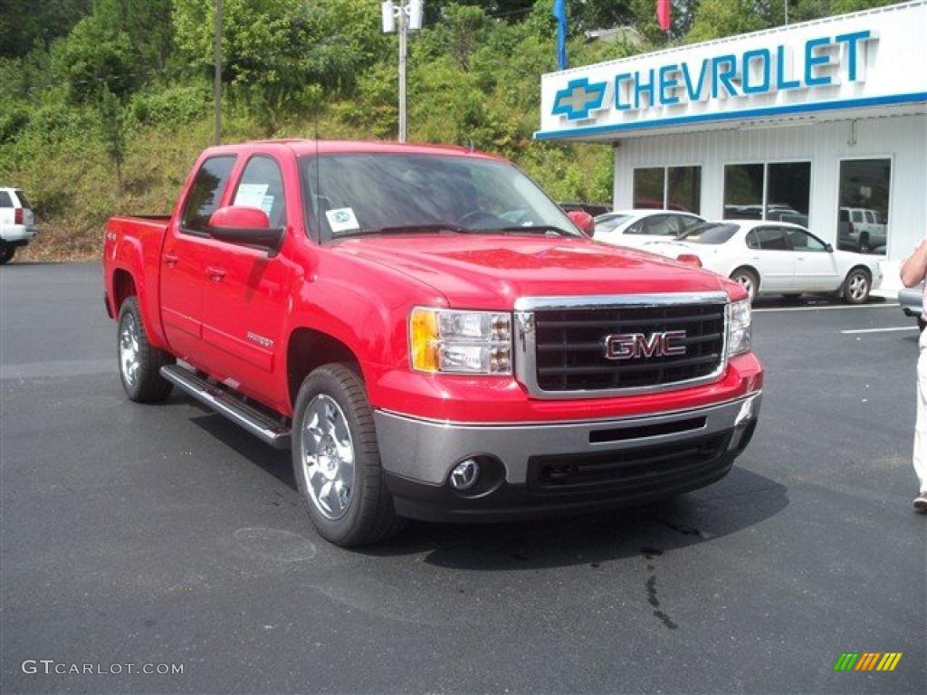
[{"label": "headlight with amber turn signal, left of the GMC grille", "polygon": [[512,316],[415,307],[409,315],[409,347],[418,372],[511,374]]}]

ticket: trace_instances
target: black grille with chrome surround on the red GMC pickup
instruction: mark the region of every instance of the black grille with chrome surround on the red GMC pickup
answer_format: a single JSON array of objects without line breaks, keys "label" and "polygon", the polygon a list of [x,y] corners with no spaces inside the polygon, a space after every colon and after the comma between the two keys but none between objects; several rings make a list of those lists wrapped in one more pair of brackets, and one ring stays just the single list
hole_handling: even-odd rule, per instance
[{"label": "black grille with chrome surround on the red GMC pickup", "polygon": [[[595,398],[707,383],[726,367],[726,304],[724,293],[520,299],[516,375],[538,398]],[[658,351],[624,360],[606,355],[609,336],[650,340],[667,334],[684,353]]]}]

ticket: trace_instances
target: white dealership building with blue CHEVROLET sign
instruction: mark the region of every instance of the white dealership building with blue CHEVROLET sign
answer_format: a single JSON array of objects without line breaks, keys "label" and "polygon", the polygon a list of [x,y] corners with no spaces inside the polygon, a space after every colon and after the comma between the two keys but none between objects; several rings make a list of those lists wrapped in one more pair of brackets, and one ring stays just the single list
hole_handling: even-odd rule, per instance
[{"label": "white dealership building with blue CHEVROLET sign", "polygon": [[535,137],[610,143],[616,209],[797,222],[897,287],[927,235],[927,0],[544,75]]}]

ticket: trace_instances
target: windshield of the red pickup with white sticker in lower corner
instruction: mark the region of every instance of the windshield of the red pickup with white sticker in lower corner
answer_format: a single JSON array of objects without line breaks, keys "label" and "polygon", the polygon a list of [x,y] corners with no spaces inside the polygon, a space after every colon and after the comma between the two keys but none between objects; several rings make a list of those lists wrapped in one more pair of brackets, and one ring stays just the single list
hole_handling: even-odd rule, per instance
[{"label": "windshield of the red pickup with white sticker in lower corner", "polygon": [[[300,157],[307,229],[322,240],[425,231],[582,236],[511,164],[439,155]],[[314,203],[317,202],[317,206]]]}]

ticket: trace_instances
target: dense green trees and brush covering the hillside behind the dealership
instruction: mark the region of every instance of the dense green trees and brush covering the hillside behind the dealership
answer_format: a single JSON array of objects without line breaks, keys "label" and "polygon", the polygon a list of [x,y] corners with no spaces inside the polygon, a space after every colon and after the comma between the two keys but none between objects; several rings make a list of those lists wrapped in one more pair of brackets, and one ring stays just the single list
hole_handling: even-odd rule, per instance
[{"label": "dense green trees and brush covering the hillside behind the dealership", "polygon": [[[883,0],[791,0],[794,20]],[[395,34],[379,0],[224,0],[226,142],[393,138]],[[409,139],[513,158],[558,199],[607,201],[607,145],[532,140],[540,75],[555,69],[552,0],[425,0],[409,62]],[[783,0],[569,0],[568,53],[589,64],[781,24]],[[210,0],[0,0],[0,184],[25,188],[42,222],[32,253],[92,256],[118,212],[171,208],[210,145]],[[584,32],[630,26],[633,44]]]}]

